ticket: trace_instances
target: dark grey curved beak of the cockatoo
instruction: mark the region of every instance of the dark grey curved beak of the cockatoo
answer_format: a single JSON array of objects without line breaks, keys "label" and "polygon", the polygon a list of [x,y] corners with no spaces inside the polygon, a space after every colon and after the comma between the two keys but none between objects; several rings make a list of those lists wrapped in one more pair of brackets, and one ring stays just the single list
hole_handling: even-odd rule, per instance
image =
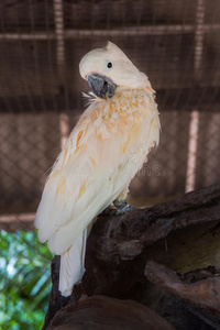
[{"label": "dark grey curved beak of the cockatoo", "polygon": [[114,95],[117,85],[107,76],[90,74],[87,80],[91,91],[101,99],[111,98]]}]

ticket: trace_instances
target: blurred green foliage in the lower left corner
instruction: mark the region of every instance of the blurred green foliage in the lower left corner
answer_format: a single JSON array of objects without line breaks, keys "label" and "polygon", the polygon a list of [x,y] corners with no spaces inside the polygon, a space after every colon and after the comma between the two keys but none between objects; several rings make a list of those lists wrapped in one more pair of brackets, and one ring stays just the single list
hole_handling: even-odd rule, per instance
[{"label": "blurred green foliage in the lower left corner", "polygon": [[51,292],[51,252],[35,231],[1,231],[0,251],[0,329],[41,329]]}]

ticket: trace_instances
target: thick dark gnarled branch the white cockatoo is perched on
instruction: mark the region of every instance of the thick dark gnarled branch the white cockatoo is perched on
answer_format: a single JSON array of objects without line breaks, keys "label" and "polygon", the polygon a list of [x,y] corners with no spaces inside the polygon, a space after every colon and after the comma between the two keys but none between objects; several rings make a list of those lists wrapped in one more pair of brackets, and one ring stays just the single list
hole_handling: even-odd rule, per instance
[{"label": "thick dark gnarled branch the white cockatoo is perched on", "polygon": [[[59,301],[59,308],[78,300],[80,295],[85,294],[130,298],[160,310],[158,304],[155,302],[158,298],[155,286],[144,276],[146,262],[154,260],[182,274],[194,273],[197,268],[205,268],[210,264],[220,268],[220,258],[216,257],[219,251],[219,235],[220,185],[186,194],[179,199],[152,208],[136,209],[123,216],[112,217],[103,212],[98,217],[87,240],[87,271],[80,289],[75,286],[70,299]],[[54,288],[57,290],[58,276],[53,277]],[[152,280],[152,276],[150,279]],[[168,287],[168,284],[166,285]],[[176,292],[172,293],[176,295]],[[161,295],[165,295],[164,292]],[[180,301],[184,299],[180,294],[176,296]],[[211,299],[215,299],[213,296],[210,297],[210,304]],[[55,311],[52,302],[48,307],[47,324]],[[190,304],[200,306],[194,299]],[[186,315],[179,318],[182,322],[184,318],[186,321]],[[198,327],[199,321],[197,320]],[[46,329],[45,327],[43,329]]]}]

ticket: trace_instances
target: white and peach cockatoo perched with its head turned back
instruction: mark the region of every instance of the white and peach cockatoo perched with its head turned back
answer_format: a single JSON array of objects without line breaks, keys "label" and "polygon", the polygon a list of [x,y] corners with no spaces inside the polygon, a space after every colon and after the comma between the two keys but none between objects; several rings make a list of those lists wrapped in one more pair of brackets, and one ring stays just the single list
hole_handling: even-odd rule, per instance
[{"label": "white and peach cockatoo perched with its head turned back", "polygon": [[64,297],[86,271],[94,219],[112,202],[121,212],[128,209],[130,183],[161,131],[147,76],[116,44],[87,53],[79,73],[90,87],[89,105],[52,167],[34,221],[40,242],[61,255]]}]

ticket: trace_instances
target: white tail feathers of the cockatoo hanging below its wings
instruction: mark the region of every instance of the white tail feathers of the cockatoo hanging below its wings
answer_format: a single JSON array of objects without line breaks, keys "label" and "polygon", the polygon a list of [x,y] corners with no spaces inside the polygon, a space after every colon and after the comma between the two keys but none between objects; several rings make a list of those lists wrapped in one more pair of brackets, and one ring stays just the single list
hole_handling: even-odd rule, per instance
[{"label": "white tail feathers of the cockatoo hanging below its wings", "polygon": [[85,273],[87,229],[84,230],[76,242],[61,256],[59,292],[68,297],[74,285],[81,279]]}]

